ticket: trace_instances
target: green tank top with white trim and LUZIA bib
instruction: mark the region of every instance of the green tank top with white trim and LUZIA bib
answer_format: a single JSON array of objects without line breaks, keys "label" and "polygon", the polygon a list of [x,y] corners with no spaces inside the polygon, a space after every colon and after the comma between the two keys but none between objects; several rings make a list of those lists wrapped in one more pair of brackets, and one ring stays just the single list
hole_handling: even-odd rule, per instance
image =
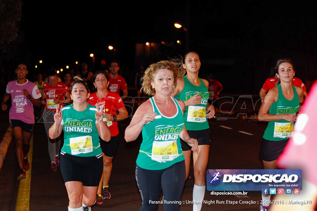
[{"label": "green tank top with white trim and LUZIA bib", "polygon": [[161,114],[154,97],[150,98],[153,112],[157,117],[142,129],[142,143],[137,158],[137,165],[147,170],[161,170],[185,159],[180,144],[179,133],[184,128],[183,112],[174,101],[177,112],[172,117]]}]

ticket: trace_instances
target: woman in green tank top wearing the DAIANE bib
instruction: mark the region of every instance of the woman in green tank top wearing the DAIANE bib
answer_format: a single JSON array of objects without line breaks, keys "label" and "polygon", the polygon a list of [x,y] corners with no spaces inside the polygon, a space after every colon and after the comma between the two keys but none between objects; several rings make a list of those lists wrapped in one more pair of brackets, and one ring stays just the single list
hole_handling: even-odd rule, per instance
[{"label": "woman in green tank top wearing the DAIANE bib", "polygon": [[[277,84],[268,91],[259,110],[258,120],[268,121],[259,154],[264,169],[277,169],[277,158],[293,134],[293,125],[304,101],[303,89],[292,85],[294,75],[293,62],[288,58],[279,59],[275,65]],[[262,194],[262,201],[269,200],[270,194]],[[260,205],[261,211],[268,209],[269,203]]]}]

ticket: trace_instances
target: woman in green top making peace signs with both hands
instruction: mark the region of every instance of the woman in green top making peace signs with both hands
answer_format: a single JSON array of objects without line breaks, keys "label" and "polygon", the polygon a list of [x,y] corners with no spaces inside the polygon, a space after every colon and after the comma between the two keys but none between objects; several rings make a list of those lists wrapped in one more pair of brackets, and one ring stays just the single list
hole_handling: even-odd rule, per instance
[{"label": "woman in green top making peace signs with both hands", "polygon": [[55,139],[64,130],[61,174],[69,198],[68,210],[91,210],[103,169],[99,136],[109,141],[111,132],[103,121],[104,106],[99,109],[88,104],[89,88],[81,78],[77,79],[71,87],[73,104],[56,108],[49,137]]}]

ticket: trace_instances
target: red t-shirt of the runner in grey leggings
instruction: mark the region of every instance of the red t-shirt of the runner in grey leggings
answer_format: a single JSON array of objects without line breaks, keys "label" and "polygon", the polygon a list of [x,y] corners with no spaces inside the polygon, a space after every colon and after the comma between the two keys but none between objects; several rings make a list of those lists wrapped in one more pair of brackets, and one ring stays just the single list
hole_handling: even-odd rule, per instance
[{"label": "red t-shirt of the runner in grey leggings", "polygon": [[[45,83],[42,92],[44,92],[46,96],[45,109],[54,111],[57,107],[57,104],[54,103],[54,99],[63,100],[64,95],[69,92],[69,89],[66,84],[62,82],[57,82],[55,86],[50,86],[49,83]],[[64,103],[60,103],[59,105],[64,106]]]}]

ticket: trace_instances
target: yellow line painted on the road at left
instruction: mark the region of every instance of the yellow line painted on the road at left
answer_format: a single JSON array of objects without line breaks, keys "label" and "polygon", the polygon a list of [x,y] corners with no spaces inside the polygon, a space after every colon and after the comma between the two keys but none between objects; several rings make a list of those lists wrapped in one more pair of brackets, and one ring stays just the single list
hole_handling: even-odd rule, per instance
[{"label": "yellow line painted on the road at left", "polygon": [[16,199],[16,211],[29,211],[31,172],[32,172],[32,154],[33,154],[33,134],[31,136],[30,150],[28,153],[30,168],[28,171],[26,171],[26,178],[20,180],[18,198]]}]

